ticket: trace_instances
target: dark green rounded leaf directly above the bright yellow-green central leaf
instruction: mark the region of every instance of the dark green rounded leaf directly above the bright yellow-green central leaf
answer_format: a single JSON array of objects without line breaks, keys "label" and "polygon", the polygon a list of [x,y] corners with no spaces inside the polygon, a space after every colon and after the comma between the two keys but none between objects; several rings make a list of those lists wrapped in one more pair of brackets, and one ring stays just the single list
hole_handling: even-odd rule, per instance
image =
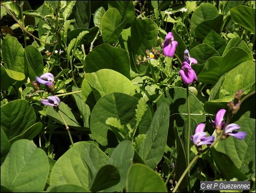
[{"label": "dark green rounded leaf directly above the bright yellow-green central leaf", "polygon": [[85,58],[85,71],[96,72],[108,68],[115,70],[130,79],[130,58],[126,50],[101,44]]}]

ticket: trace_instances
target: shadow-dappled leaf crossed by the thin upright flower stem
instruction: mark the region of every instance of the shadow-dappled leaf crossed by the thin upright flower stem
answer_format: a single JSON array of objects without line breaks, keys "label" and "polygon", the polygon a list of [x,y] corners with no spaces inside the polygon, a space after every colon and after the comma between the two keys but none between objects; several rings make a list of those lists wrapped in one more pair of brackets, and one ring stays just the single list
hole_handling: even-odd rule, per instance
[{"label": "shadow-dappled leaf crossed by the thin upright flower stem", "polygon": [[[164,92],[156,102],[158,106],[162,104],[162,102],[166,102],[166,104],[170,106],[170,123],[174,126],[174,122],[176,122],[179,131],[183,130],[184,122],[188,119],[186,98],[186,89],[174,87]],[[197,123],[205,122],[205,115],[201,114],[204,108],[201,102],[191,92],[189,92],[189,104],[191,118],[195,119]]]}]

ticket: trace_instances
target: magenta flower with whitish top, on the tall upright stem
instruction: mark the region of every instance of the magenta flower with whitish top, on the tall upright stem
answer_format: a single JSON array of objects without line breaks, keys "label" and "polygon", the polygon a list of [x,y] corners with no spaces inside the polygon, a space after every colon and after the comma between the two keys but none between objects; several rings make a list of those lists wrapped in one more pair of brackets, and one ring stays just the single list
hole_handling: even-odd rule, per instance
[{"label": "magenta flower with whitish top, on the tall upright stem", "polygon": [[181,70],[179,71],[181,79],[185,84],[191,84],[192,82],[197,81],[196,72],[191,67],[192,63],[197,63],[197,60],[195,58],[191,58],[188,50],[185,50],[184,62],[182,63]]}]

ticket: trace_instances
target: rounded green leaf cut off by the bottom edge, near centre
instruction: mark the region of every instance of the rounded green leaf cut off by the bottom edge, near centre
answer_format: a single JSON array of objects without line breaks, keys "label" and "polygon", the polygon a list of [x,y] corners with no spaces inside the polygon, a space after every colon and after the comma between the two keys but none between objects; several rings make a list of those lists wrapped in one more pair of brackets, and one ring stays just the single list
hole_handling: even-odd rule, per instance
[{"label": "rounded green leaf cut off by the bottom edge, near centre", "polygon": [[143,164],[134,164],[127,174],[126,192],[167,192],[167,188],[154,170]]}]

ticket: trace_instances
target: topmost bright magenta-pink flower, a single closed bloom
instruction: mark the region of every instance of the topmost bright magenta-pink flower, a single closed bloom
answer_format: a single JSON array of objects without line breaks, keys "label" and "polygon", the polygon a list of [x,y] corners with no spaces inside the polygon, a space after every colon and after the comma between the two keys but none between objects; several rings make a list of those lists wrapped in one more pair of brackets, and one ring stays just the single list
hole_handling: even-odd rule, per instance
[{"label": "topmost bright magenta-pink flower, a single closed bloom", "polygon": [[173,57],[177,44],[177,41],[174,41],[172,32],[167,33],[166,38],[164,39],[163,54],[168,57]]}]

